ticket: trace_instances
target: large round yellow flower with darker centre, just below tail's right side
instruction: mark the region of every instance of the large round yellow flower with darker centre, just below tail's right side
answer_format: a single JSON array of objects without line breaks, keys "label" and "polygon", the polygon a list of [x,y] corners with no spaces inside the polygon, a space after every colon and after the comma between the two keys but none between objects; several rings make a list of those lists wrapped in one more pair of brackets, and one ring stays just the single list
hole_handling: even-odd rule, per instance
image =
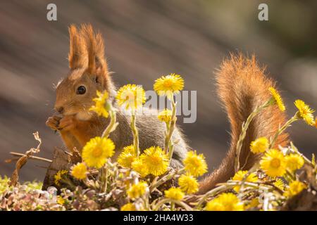
[{"label": "large round yellow flower with darker centre, just below tail's right side", "polygon": [[283,176],[286,172],[286,160],[280,150],[268,150],[262,157],[260,165],[268,176]]}]

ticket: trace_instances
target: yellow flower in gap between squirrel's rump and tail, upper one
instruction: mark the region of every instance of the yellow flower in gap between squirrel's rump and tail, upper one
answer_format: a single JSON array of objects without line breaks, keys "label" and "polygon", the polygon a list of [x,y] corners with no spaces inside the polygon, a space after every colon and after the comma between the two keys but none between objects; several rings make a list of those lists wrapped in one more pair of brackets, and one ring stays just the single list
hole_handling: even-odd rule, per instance
[{"label": "yellow flower in gap between squirrel's rump and tail, upper one", "polygon": [[192,176],[201,176],[207,172],[207,164],[203,154],[197,155],[196,150],[187,152],[185,160],[183,160],[185,170]]}]

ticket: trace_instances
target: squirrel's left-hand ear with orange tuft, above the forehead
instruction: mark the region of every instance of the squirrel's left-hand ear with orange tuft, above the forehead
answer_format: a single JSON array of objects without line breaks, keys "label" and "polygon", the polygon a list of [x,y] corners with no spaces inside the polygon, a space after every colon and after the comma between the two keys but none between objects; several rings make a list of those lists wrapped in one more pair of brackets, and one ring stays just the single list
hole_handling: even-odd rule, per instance
[{"label": "squirrel's left-hand ear with orange tuft, above the forehead", "polygon": [[87,62],[87,53],[85,52],[84,41],[77,32],[75,25],[68,28],[70,47],[68,54],[69,67],[71,69],[84,68]]}]

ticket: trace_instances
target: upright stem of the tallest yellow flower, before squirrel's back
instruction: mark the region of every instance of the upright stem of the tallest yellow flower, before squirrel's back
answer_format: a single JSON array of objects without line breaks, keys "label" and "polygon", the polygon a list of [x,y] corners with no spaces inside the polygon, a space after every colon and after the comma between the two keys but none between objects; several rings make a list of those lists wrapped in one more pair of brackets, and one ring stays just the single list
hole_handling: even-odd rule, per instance
[{"label": "upright stem of the tallest yellow flower, before squirrel's back", "polygon": [[165,138],[165,144],[164,144],[164,152],[168,153],[169,162],[173,156],[174,148],[173,148],[172,136],[173,136],[173,132],[175,130],[175,124],[176,124],[176,120],[177,120],[176,103],[174,101],[174,98],[172,98],[171,105],[172,105],[172,118],[170,120],[169,126],[166,126],[169,129],[166,131],[166,138]]}]

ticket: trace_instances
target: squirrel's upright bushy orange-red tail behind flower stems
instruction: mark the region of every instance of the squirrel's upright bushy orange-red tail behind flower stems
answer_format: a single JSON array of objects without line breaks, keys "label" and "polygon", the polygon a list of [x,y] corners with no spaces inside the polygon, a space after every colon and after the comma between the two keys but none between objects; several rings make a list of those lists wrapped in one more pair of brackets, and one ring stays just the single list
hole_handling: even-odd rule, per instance
[{"label": "squirrel's upright bushy orange-red tail behind flower stems", "polygon": [[[211,190],[216,184],[228,181],[235,174],[235,152],[242,123],[247,120],[256,106],[263,105],[271,98],[268,89],[270,86],[275,86],[275,82],[266,77],[264,72],[265,68],[261,68],[256,63],[254,56],[247,58],[241,53],[237,56],[231,55],[230,58],[224,60],[220,70],[216,72],[218,95],[223,101],[230,121],[231,143],[220,167],[201,181],[199,193]],[[284,123],[285,113],[282,113],[277,105],[269,106],[254,117],[242,143],[240,165],[244,167],[241,169],[250,169],[256,160],[259,160],[259,155],[254,155],[249,150],[251,141],[261,136],[270,139],[278,130],[279,125]],[[273,147],[283,146],[287,141],[288,135],[283,134],[279,136]]]}]

